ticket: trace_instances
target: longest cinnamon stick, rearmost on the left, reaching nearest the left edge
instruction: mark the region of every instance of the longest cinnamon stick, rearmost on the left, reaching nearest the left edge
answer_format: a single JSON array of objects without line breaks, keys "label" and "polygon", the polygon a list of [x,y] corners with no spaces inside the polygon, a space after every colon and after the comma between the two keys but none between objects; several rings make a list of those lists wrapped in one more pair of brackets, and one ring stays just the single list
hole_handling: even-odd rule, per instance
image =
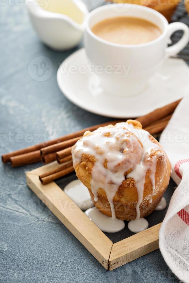
[{"label": "longest cinnamon stick, rearmost on the left, reaching nearest the left edge", "polygon": [[107,126],[109,124],[115,125],[118,122],[123,122],[123,120],[114,120],[114,121],[111,121],[111,122],[105,122],[105,123],[102,123],[102,124],[94,125],[94,126],[82,129],[80,131],[77,131],[75,133],[71,133],[71,134],[68,134],[68,135],[64,135],[62,137],[58,137],[57,139],[52,139],[52,140],[49,140],[47,142],[42,142],[40,144],[35,144],[33,146],[29,146],[27,148],[15,150],[13,152],[3,154],[1,156],[1,159],[2,159],[3,163],[7,163],[7,162],[10,161],[10,158],[13,157],[13,156],[17,156],[17,155],[21,155],[21,154],[25,154],[25,153],[29,153],[29,152],[34,152],[34,151],[40,150],[41,148],[51,146],[53,144],[57,144],[57,143],[60,143],[60,142],[64,142],[66,140],[73,139],[75,137],[79,137],[79,136],[83,135],[86,131],[94,131],[94,130],[98,129],[99,127]]}]

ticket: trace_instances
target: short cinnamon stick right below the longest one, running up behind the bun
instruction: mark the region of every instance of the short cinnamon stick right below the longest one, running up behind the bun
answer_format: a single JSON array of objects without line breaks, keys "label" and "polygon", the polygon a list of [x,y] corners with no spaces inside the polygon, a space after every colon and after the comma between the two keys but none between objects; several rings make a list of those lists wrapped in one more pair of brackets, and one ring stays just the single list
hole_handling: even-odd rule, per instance
[{"label": "short cinnamon stick right below the longest one, running up behind the bun", "polygon": [[64,148],[73,146],[79,139],[81,139],[81,137],[75,137],[73,139],[68,139],[65,142],[60,142],[58,144],[53,144],[52,146],[47,146],[45,148],[42,148],[41,151],[40,151],[41,156],[45,156],[45,154],[57,152],[57,151],[60,151]]}]

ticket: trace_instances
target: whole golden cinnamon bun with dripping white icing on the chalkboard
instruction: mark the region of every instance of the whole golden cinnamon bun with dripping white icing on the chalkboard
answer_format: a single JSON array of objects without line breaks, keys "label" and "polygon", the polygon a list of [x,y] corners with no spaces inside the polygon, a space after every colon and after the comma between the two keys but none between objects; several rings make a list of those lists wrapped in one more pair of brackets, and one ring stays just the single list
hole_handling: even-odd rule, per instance
[{"label": "whole golden cinnamon bun with dripping white icing on the chalkboard", "polygon": [[85,132],[72,157],[95,207],[122,220],[149,215],[171,175],[163,148],[136,120]]}]

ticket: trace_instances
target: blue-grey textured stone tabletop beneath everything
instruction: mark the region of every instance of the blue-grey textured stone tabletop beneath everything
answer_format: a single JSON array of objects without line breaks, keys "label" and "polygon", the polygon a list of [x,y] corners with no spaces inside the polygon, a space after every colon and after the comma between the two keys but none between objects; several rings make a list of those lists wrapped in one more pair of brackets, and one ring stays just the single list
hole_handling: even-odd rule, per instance
[{"label": "blue-grey textured stone tabletop beneath everything", "polygon": [[[22,1],[2,3],[0,154],[110,120],[79,109],[60,92],[56,72],[73,51],[44,46]],[[52,62],[46,81],[39,81],[35,68],[28,71],[40,56]],[[0,163],[1,283],[177,282],[159,250],[106,271],[27,187],[25,172],[40,165],[12,169]]]}]

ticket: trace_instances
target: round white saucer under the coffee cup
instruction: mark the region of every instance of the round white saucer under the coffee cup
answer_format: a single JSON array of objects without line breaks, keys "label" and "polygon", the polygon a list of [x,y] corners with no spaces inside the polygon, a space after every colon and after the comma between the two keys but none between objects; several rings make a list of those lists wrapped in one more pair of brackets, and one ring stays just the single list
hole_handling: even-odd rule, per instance
[{"label": "round white saucer under the coffee cup", "polygon": [[84,66],[88,66],[88,59],[82,48],[68,56],[60,65],[57,72],[58,85],[71,102],[103,116],[142,116],[182,98],[189,88],[188,66],[182,59],[167,59],[143,92],[125,97],[106,94],[100,86],[99,77],[89,74]]}]

